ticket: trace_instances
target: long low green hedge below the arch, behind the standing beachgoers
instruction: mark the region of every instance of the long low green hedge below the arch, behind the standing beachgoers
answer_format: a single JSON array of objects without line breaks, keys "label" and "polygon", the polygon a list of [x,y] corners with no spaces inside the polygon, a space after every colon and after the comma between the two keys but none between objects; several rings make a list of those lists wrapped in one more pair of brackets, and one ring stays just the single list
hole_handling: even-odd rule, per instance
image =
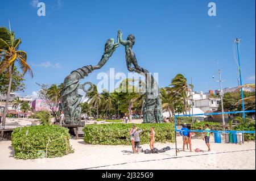
[{"label": "long low green hedge below the arch, behind the standing beachgoers", "polygon": [[[133,124],[99,124],[86,125],[84,131],[84,141],[93,145],[129,145],[129,131]],[[143,130],[140,133],[141,144],[148,144],[150,141],[150,129],[155,127],[156,142],[174,142],[174,124],[158,123],[158,124],[137,124]]]}]

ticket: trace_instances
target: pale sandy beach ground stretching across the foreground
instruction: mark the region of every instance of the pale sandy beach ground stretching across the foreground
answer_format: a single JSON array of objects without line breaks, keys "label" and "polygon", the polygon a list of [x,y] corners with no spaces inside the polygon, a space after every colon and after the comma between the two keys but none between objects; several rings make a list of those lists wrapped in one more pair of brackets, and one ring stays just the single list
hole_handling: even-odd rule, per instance
[{"label": "pale sandy beach ground stretching across the foreground", "polygon": [[[75,153],[61,158],[19,160],[14,158],[11,141],[0,142],[0,169],[255,169],[255,142],[245,144],[215,144],[210,140],[212,151],[208,152],[203,140],[193,139],[192,149],[204,152],[181,151],[175,157],[175,144],[156,143],[160,149],[172,149],[158,154],[131,154],[131,146],[88,145],[82,139],[71,139]],[[177,137],[181,149],[182,138]],[[148,149],[148,145],[142,145]]]}]

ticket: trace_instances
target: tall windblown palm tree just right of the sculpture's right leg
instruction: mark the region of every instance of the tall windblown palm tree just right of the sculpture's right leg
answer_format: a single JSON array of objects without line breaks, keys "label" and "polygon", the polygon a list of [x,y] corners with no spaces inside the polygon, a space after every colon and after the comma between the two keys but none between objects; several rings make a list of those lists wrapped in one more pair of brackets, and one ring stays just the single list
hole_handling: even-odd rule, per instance
[{"label": "tall windblown palm tree just right of the sculpture's right leg", "polygon": [[187,85],[187,79],[182,74],[177,74],[174,79],[172,79],[171,85],[172,86],[172,92],[175,94],[175,96],[180,96],[183,100],[184,104],[184,111],[189,112],[190,110],[188,108],[188,85]]}]

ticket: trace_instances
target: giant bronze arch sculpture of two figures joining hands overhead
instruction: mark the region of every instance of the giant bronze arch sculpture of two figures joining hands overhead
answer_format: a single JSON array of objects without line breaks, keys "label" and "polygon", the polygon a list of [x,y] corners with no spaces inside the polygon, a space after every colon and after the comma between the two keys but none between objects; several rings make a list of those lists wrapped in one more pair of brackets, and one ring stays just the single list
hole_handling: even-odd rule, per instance
[{"label": "giant bronze arch sculpture of two figures joining hands overhead", "polygon": [[[79,89],[85,92],[92,91],[93,83],[85,82],[80,85],[80,79],[88,76],[92,71],[101,69],[106,64],[109,58],[114,53],[119,44],[125,47],[125,59],[127,69],[131,72],[135,71],[141,74],[146,79],[146,98],[143,103],[143,123],[162,123],[162,102],[160,99],[158,83],[155,81],[152,74],[138,65],[137,58],[133,52],[133,45],[135,44],[135,36],[129,35],[126,40],[122,38],[122,32],[118,31],[117,43],[114,39],[108,39],[105,44],[105,51],[100,62],[96,66],[88,65],[74,70],[69,74],[63,82],[63,89],[61,90],[61,102],[65,115],[66,124],[75,124],[80,121],[81,108],[80,102],[82,95],[79,94]],[[89,89],[85,89],[86,85],[90,85]]]}]

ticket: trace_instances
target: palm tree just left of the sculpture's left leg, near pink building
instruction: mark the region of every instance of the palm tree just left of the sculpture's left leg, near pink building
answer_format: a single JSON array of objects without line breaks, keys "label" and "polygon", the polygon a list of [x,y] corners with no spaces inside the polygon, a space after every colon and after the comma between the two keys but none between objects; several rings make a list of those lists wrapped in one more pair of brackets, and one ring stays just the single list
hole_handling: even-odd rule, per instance
[{"label": "palm tree just left of the sculpture's left leg, near pink building", "polygon": [[51,99],[52,102],[54,102],[55,107],[53,108],[52,112],[53,115],[56,117],[56,112],[57,112],[57,106],[60,100],[60,91],[61,91],[61,87],[57,86],[56,84],[53,84],[51,87],[49,87],[49,89],[47,90],[47,95],[49,96],[49,99]]}]

